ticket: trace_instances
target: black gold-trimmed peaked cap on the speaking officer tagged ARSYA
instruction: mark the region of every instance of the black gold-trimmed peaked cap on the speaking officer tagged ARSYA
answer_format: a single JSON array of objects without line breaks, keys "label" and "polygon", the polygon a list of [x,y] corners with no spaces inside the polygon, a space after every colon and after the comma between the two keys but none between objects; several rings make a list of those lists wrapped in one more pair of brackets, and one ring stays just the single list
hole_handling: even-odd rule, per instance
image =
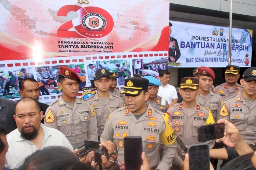
[{"label": "black gold-trimmed peaked cap on the speaking officer tagged ARSYA", "polygon": [[124,89],[120,94],[138,96],[143,90],[148,88],[148,79],[142,77],[132,77],[125,79]]}]

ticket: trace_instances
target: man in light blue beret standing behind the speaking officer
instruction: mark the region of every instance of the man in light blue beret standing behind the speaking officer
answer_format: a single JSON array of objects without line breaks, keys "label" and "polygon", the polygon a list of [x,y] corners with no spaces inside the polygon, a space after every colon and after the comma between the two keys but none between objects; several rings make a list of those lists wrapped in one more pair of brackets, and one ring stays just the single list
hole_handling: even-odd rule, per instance
[{"label": "man in light blue beret standing behind the speaking officer", "polygon": [[154,109],[165,113],[169,108],[169,104],[166,99],[162,102],[162,97],[157,95],[159,86],[161,86],[160,81],[153,76],[144,76],[144,78],[149,81],[147,91],[150,93],[150,96],[147,101]]}]

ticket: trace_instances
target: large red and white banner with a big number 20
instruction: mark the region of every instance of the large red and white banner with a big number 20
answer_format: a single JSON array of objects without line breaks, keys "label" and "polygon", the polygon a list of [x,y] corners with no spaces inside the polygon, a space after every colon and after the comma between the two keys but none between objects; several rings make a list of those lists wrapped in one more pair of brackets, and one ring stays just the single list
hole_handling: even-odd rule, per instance
[{"label": "large red and white banner with a big number 20", "polygon": [[[36,79],[40,102],[61,95],[61,65],[82,78],[83,99],[97,92],[89,76],[97,69],[118,74],[119,89],[134,73],[159,78],[159,69],[168,69],[169,1],[4,0],[0,10],[0,73]],[[8,92],[0,83],[0,96],[19,99],[16,84]]]}]

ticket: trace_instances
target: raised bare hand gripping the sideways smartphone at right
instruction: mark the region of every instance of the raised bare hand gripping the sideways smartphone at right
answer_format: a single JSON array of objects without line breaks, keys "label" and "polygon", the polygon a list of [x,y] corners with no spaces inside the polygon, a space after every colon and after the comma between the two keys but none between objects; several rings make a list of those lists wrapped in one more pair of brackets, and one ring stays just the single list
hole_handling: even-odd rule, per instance
[{"label": "raised bare hand gripping the sideways smartphone at right", "polygon": [[233,123],[225,119],[220,119],[217,121],[217,123],[225,124],[225,133],[224,133],[224,137],[221,139],[216,139],[216,142],[222,142],[227,146],[234,148],[235,146],[237,146],[239,143],[243,141],[239,133],[239,130],[236,128],[236,126],[233,125]]}]

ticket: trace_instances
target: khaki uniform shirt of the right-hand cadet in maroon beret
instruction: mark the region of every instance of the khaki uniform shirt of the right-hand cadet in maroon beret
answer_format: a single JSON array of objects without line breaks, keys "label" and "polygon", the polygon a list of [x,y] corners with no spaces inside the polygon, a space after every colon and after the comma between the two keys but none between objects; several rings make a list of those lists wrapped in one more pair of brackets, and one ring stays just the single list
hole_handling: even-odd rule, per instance
[{"label": "khaki uniform shirt of the right-hand cadet in maroon beret", "polygon": [[221,96],[218,93],[210,91],[205,98],[200,93],[196,97],[196,101],[197,103],[200,103],[201,105],[208,107],[212,112],[214,120],[216,120],[216,114],[219,113],[219,110],[221,109],[221,105],[223,102]]}]

